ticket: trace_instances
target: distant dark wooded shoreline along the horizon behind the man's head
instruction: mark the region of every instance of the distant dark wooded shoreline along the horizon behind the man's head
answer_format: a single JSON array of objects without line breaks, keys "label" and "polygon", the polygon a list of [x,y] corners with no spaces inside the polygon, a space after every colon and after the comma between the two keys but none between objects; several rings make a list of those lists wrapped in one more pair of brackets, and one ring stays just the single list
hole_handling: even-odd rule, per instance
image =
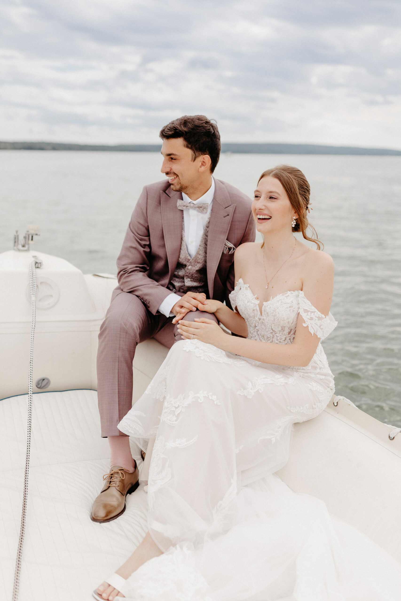
[{"label": "distant dark wooded shoreline along the horizon behind the man's head", "polygon": [[[0,142],[0,150],[96,150],[114,152],[160,152],[161,144],[63,144],[60,142]],[[223,153],[244,154],[353,154],[370,156],[401,156],[401,150],[325,146],[320,144],[253,144],[223,142]]]}]

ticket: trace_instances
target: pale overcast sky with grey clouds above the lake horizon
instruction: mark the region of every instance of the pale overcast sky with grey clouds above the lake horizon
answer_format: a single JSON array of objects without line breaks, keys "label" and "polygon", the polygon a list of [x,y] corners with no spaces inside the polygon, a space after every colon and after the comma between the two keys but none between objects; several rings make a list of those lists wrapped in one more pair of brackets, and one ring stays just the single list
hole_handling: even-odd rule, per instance
[{"label": "pale overcast sky with grey clouds above the lake horizon", "polygon": [[0,139],[401,148],[400,0],[0,0]]}]

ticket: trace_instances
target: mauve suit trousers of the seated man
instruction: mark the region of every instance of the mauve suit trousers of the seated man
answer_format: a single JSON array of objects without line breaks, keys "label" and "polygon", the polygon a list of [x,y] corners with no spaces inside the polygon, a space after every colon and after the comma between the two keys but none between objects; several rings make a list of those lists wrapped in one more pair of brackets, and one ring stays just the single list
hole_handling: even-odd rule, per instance
[{"label": "mauve suit trousers of the seated man", "polygon": [[[207,317],[217,323],[213,314],[189,311],[185,320]],[[132,407],[132,361],[137,344],[155,338],[170,348],[181,340],[173,317],[153,315],[143,302],[129,292],[117,288],[111,297],[99,332],[98,403],[102,436],[126,436],[117,424]]]}]

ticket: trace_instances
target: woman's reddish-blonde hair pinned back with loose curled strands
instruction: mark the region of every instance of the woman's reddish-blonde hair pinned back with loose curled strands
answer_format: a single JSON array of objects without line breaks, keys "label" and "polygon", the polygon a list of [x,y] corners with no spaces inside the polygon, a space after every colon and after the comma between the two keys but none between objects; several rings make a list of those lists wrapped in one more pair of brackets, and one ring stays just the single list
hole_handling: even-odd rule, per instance
[{"label": "woman's reddish-blonde hair pinned back with loose curled strands", "polygon": [[[270,177],[275,177],[276,180],[279,180],[288,196],[288,200],[290,200],[294,211],[296,211],[298,215],[296,224],[293,227],[293,231],[302,231],[302,236],[305,238],[305,240],[314,242],[319,251],[323,250],[323,242],[320,242],[315,228],[309,224],[308,221],[309,194],[311,192],[311,188],[305,175],[303,175],[300,169],[291,167],[291,165],[278,165],[273,167],[273,169],[267,169],[267,171],[264,171],[260,176],[258,183],[261,179],[263,179],[263,177],[267,177],[269,175]],[[312,237],[306,234],[306,230],[308,228],[311,230]]]}]

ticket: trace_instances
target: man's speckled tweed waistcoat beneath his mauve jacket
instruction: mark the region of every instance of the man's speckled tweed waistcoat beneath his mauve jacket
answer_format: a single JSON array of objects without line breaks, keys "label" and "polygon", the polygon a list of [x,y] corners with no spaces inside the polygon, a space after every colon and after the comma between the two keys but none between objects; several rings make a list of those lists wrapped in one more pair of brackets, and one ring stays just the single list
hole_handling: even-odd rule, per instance
[{"label": "man's speckled tweed waistcoat beneath his mauve jacket", "polygon": [[209,222],[206,222],[204,233],[196,253],[191,258],[188,255],[187,245],[185,244],[184,219],[182,220],[181,251],[179,252],[178,263],[175,272],[167,288],[172,292],[181,292],[185,294],[191,292],[208,293],[208,277],[206,269],[206,254],[208,248]]}]

